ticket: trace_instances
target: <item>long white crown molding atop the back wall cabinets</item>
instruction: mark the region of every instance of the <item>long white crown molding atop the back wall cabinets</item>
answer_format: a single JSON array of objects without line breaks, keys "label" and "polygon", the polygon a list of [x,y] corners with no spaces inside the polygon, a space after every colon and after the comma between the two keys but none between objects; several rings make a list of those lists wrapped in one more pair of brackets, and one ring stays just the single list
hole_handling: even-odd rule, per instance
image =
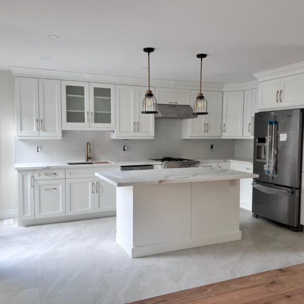
[{"label": "long white crown molding atop the back wall cabinets", "polygon": [[[17,66],[10,66],[10,71],[16,77],[85,81],[85,82],[144,86],[144,87],[147,86],[146,78],[102,75],[102,74],[84,73],[84,72],[68,72],[68,71],[60,71],[60,70],[27,68],[27,67],[17,67]],[[200,86],[199,82],[165,80],[165,79],[151,79],[150,83],[152,87],[193,89],[193,90],[197,90]],[[223,84],[203,83],[202,89],[207,91],[208,90],[222,91]]]}]

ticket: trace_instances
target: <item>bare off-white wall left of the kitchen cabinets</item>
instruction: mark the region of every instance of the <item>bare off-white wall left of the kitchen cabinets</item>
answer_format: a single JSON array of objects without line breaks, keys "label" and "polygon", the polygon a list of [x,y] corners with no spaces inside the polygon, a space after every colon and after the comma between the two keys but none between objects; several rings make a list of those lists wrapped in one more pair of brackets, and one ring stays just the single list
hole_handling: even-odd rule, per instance
[{"label": "bare off-white wall left of the kitchen cabinets", "polygon": [[17,209],[14,136],[14,78],[9,71],[0,70],[0,213]]}]

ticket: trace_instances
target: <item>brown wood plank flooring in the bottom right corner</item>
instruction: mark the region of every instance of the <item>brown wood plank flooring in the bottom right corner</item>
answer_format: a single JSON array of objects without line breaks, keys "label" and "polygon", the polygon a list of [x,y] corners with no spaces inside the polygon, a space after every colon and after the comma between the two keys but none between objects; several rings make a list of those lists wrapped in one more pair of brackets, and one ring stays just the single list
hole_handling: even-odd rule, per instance
[{"label": "brown wood plank flooring in the bottom right corner", "polygon": [[304,263],[132,302],[158,303],[303,304]]}]

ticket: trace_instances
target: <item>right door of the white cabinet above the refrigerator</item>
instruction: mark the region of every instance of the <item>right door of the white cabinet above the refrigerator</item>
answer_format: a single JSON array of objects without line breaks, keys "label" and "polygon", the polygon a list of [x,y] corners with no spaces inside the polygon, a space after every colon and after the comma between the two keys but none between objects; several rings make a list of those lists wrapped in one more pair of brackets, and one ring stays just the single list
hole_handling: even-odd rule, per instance
[{"label": "right door of the white cabinet above the refrigerator", "polygon": [[304,105],[304,74],[281,78],[280,107]]}]

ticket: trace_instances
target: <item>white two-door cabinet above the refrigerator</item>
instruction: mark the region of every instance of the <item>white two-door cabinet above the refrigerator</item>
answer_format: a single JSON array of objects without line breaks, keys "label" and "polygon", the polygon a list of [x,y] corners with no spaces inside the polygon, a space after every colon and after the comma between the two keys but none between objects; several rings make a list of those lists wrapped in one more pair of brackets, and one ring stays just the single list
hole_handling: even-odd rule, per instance
[{"label": "white two-door cabinet above the refrigerator", "polygon": [[304,105],[304,74],[259,83],[259,109]]}]

